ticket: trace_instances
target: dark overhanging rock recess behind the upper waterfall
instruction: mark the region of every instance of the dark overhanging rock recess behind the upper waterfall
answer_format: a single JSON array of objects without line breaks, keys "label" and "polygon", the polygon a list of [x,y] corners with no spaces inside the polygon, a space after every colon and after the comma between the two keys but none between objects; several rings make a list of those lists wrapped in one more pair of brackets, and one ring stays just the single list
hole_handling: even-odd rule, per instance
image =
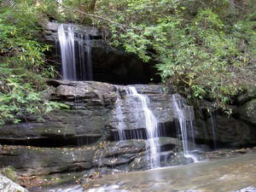
[{"label": "dark overhanging rock recess behind the upper waterfall", "polygon": [[[49,61],[60,61],[60,56],[56,56],[60,55],[57,37],[57,30],[60,25],[61,23],[49,22],[45,26],[44,41],[53,46],[51,54],[48,55]],[[93,80],[111,84],[148,84],[160,82],[160,76],[156,75],[157,71],[154,63],[145,63],[137,55],[126,53],[124,49],[109,47],[102,40],[104,32],[90,26],[62,25],[73,27],[76,37],[75,41],[78,41],[80,34],[90,36]],[[55,65],[55,62],[51,64]]]}]

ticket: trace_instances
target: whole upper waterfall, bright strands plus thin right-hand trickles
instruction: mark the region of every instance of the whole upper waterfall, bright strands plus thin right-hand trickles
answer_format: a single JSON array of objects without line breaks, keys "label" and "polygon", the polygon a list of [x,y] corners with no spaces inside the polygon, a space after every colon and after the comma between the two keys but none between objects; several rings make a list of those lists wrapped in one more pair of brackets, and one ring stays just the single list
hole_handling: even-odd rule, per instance
[{"label": "whole upper waterfall, bright strands plus thin right-hand trickles", "polygon": [[[73,26],[58,27],[61,69],[64,80],[92,80],[90,35],[75,32]],[[85,49],[84,49],[85,46]]]}]

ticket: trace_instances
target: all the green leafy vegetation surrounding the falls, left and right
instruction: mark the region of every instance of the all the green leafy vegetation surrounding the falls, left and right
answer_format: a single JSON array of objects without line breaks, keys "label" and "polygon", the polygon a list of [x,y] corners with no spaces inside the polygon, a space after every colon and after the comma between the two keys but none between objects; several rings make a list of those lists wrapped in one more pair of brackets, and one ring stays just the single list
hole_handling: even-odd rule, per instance
[{"label": "all the green leafy vegetation surrounding the falls, left and right", "polygon": [[38,41],[44,20],[101,27],[106,40],[154,61],[166,84],[189,99],[227,110],[255,84],[254,0],[0,0],[0,124],[61,107],[44,100],[49,46]]}]

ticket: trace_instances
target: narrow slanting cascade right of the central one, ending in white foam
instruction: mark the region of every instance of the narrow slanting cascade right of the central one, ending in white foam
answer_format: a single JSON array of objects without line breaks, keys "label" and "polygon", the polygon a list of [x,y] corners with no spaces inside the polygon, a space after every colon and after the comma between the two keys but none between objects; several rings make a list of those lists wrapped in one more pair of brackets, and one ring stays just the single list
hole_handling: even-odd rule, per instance
[{"label": "narrow slanting cascade right of the central one, ending in white foam", "polygon": [[[193,109],[186,105],[182,96],[177,94],[172,95],[172,105],[178,119],[178,125],[183,140],[183,153],[187,158],[197,161],[195,156],[189,152],[195,149],[195,139],[192,117],[194,116]],[[193,116],[192,116],[193,115]],[[192,144],[192,146],[189,146]]]}]

